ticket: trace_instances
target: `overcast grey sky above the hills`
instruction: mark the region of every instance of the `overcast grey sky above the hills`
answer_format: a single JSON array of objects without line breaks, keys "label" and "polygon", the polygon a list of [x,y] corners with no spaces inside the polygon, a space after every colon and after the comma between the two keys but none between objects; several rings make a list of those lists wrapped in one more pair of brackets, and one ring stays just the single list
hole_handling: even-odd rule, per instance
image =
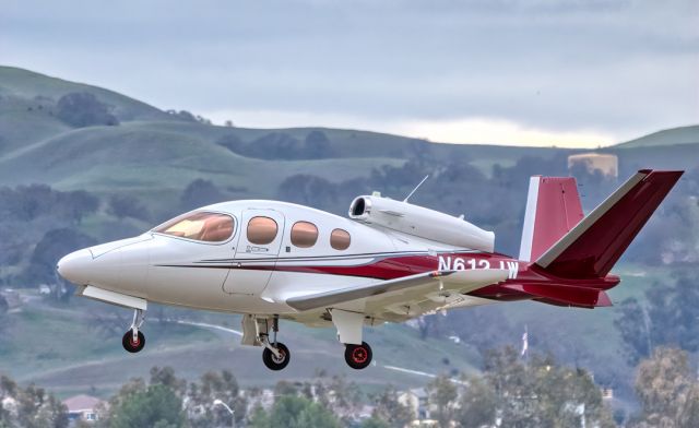
[{"label": "overcast grey sky above the hills", "polygon": [[0,63],[239,127],[596,146],[699,123],[699,1],[0,0]]}]

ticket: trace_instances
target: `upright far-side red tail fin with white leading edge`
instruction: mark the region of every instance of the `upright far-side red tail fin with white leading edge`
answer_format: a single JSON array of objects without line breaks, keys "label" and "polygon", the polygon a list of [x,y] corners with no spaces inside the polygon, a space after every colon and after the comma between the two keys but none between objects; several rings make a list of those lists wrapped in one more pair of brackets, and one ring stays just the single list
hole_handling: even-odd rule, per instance
[{"label": "upright far-side red tail fin with white leading edge", "polygon": [[536,260],[582,219],[572,177],[534,176],[529,182],[520,260]]}]

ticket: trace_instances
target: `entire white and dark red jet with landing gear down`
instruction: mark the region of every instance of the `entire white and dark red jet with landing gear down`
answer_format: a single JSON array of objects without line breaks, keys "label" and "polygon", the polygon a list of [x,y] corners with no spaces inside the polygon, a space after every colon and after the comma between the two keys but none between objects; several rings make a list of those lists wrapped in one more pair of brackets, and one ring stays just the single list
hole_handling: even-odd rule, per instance
[{"label": "entire white and dark red jet with landing gear down", "polygon": [[463,216],[375,193],[356,198],[350,218],[274,201],[209,205],[57,269],[79,295],[134,309],[130,353],[145,344],[152,301],[241,313],[242,344],[263,346],[272,370],[291,357],[280,319],[334,325],[347,365],[363,369],[364,325],[522,299],[609,306],[605,290],[620,281],[611,269],[682,174],[641,170],[585,217],[573,178],[532,177],[519,259],[494,252],[494,234]]}]

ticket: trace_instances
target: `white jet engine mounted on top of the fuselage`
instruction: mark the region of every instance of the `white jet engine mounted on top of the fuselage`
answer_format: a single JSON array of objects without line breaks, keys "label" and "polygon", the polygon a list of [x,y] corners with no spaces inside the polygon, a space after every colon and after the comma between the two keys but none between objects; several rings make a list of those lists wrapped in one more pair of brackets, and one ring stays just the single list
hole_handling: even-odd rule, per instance
[{"label": "white jet engine mounted on top of the fuselage", "polygon": [[461,217],[390,198],[357,197],[350,218],[455,247],[493,252],[495,234]]}]

